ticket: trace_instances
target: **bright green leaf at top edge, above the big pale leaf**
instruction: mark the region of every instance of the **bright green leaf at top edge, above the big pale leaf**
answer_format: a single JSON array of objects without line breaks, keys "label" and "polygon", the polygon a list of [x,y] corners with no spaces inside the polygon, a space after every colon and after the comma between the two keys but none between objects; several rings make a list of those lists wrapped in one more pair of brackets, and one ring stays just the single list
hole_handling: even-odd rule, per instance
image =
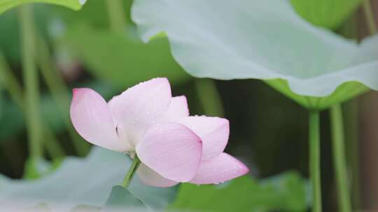
[{"label": "bright green leaf at top edge, above the big pale leaf", "polygon": [[293,7],[308,22],[320,27],[339,27],[362,0],[291,0]]}]

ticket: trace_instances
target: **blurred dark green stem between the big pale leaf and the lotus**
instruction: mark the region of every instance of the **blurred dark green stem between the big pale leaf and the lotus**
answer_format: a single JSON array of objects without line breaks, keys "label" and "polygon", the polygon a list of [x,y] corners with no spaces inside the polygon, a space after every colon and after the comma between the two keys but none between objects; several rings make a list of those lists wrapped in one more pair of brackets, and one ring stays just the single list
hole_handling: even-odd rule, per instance
[{"label": "blurred dark green stem between the big pale leaf and the lotus", "polygon": [[195,89],[205,114],[224,116],[221,96],[213,79],[195,79]]}]

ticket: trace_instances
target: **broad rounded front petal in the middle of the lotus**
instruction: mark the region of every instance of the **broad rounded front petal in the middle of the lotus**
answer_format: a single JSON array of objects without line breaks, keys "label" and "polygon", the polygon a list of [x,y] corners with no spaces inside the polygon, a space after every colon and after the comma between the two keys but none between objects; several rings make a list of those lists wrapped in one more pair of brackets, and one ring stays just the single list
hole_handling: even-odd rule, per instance
[{"label": "broad rounded front petal in the middle of the lotus", "polygon": [[200,165],[202,142],[180,123],[162,123],[146,132],[136,151],[141,162],[163,177],[188,182]]}]

